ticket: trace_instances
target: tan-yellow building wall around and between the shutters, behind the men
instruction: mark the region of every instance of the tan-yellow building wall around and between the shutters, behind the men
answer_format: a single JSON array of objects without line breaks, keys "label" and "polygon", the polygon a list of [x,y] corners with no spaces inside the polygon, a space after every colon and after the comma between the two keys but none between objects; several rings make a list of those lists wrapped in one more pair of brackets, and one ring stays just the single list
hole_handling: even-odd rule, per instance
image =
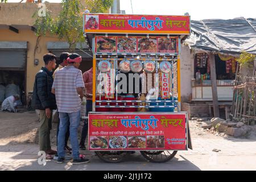
[{"label": "tan-yellow building wall around and between the shutters, behind the men", "polygon": [[[47,42],[58,42],[57,38],[52,36],[43,37],[40,39],[39,47],[35,52],[36,46],[36,36],[35,32],[31,30],[19,30],[19,34],[13,31],[0,29],[0,41],[26,41],[27,44],[27,75],[26,75],[26,92],[32,92],[34,86],[35,75],[39,69],[44,65],[43,55],[48,53]],[[39,65],[34,65],[34,59],[39,60]]]}]

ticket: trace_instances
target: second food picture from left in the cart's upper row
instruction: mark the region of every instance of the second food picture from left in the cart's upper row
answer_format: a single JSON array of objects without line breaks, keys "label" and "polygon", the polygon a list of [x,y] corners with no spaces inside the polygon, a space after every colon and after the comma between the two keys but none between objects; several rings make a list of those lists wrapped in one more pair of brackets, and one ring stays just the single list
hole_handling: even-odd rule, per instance
[{"label": "second food picture from left in the cart's upper row", "polygon": [[136,52],[136,38],[117,38],[118,52]]}]

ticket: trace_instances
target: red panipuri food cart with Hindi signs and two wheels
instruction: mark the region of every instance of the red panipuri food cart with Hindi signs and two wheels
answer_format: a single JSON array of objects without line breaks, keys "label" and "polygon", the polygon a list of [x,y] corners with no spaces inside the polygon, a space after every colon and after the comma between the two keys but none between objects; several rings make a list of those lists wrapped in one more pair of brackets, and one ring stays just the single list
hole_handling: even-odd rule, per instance
[{"label": "red panipuri food cart with Hindi signs and two wheels", "polygon": [[180,111],[180,44],[190,16],[84,14],[93,52],[93,111],[88,150],[105,162],[140,151],[167,162],[192,149]]}]

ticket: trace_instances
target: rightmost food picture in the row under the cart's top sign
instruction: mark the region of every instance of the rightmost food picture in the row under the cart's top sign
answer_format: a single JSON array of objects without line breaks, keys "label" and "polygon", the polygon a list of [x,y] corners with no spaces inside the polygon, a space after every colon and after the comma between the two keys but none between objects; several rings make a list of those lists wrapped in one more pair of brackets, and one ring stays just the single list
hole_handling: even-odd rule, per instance
[{"label": "rightmost food picture in the row under the cart's top sign", "polygon": [[176,39],[158,38],[158,52],[176,52],[176,49]]}]

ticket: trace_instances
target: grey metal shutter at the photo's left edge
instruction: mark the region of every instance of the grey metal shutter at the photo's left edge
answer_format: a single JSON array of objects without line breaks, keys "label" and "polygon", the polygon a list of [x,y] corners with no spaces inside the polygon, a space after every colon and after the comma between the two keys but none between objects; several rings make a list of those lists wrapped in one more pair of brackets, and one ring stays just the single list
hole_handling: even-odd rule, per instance
[{"label": "grey metal shutter at the photo's left edge", "polygon": [[26,55],[26,49],[0,49],[0,69],[18,69],[24,71],[26,67]]}]

